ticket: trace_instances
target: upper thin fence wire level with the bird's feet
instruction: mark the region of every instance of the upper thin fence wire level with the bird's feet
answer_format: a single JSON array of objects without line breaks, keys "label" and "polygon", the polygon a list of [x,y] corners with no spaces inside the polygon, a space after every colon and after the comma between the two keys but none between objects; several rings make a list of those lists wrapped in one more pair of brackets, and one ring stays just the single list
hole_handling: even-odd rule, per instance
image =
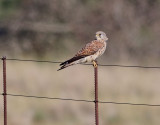
[{"label": "upper thin fence wire level with the bird's feet", "polygon": [[[3,58],[1,58],[3,59]],[[26,60],[26,59],[6,59],[10,61],[24,61],[24,62],[40,62],[40,63],[62,63],[60,61],[44,61],[44,60]],[[92,65],[92,64],[83,64],[83,65]],[[140,65],[110,65],[110,64],[98,64],[102,67],[125,67],[125,68],[146,68],[146,69],[160,69],[160,66],[140,66]]]}]

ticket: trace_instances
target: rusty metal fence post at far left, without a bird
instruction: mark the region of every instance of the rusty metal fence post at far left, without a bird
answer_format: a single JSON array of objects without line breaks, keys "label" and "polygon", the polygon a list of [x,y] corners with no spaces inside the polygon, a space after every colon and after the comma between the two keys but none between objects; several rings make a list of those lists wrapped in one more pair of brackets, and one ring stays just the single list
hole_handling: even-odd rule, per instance
[{"label": "rusty metal fence post at far left, without a bird", "polygon": [[4,105],[4,125],[7,125],[7,86],[6,86],[6,57],[3,60],[3,105]]}]

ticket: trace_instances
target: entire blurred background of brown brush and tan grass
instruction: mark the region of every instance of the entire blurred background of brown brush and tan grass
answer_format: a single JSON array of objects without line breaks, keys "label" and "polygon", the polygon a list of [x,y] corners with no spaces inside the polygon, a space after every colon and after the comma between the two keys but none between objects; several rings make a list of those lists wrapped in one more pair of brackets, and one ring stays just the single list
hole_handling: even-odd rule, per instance
[{"label": "entire blurred background of brown brush and tan grass", "polygon": [[[0,53],[7,58],[64,61],[102,30],[109,41],[99,63],[155,66],[159,27],[160,0],[0,0]],[[8,93],[94,98],[92,66],[57,69],[58,64],[7,61]],[[99,98],[160,104],[159,74],[158,69],[100,67]],[[101,125],[157,125],[159,115],[156,107],[100,104]],[[9,96],[8,123],[91,125],[94,104]]]}]

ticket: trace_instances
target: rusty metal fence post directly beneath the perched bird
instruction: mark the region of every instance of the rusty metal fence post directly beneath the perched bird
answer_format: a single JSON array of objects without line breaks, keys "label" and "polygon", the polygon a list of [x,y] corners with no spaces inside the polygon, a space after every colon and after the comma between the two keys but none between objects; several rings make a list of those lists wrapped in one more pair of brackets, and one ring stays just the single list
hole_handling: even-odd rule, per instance
[{"label": "rusty metal fence post directly beneath the perched bird", "polygon": [[[97,63],[97,62],[96,62]],[[94,80],[95,80],[95,123],[99,125],[99,116],[98,116],[98,63],[97,67],[94,67]]]}]

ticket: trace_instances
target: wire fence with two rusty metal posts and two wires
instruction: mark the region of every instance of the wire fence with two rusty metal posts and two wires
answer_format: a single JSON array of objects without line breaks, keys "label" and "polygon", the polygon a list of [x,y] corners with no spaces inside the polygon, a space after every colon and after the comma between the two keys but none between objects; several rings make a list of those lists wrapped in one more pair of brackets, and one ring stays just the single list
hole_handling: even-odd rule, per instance
[{"label": "wire fence with two rusty metal posts and two wires", "polygon": [[[3,93],[0,93],[3,96],[3,109],[4,109],[4,125],[7,125],[7,96],[13,97],[23,97],[23,98],[38,98],[38,99],[49,99],[49,100],[62,100],[62,101],[75,101],[75,102],[86,102],[86,103],[95,103],[95,125],[99,125],[99,116],[98,116],[98,104],[116,104],[116,105],[131,105],[131,106],[151,106],[151,107],[160,107],[160,104],[148,104],[148,103],[130,103],[130,102],[113,102],[113,101],[99,101],[98,100],[98,67],[94,68],[94,78],[95,78],[95,99],[94,100],[83,100],[83,99],[72,99],[72,98],[57,98],[57,97],[48,97],[48,96],[34,96],[34,95],[22,95],[7,93],[7,83],[6,83],[6,61],[21,61],[21,62],[36,62],[36,63],[61,63],[59,61],[44,61],[44,60],[25,60],[25,59],[16,59],[16,58],[0,58],[3,61]],[[83,65],[92,65],[92,64],[83,64]],[[122,67],[122,68],[144,68],[144,69],[160,69],[160,66],[140,66],[140,65],[106,65],[98,64],[102,67]]]}]

